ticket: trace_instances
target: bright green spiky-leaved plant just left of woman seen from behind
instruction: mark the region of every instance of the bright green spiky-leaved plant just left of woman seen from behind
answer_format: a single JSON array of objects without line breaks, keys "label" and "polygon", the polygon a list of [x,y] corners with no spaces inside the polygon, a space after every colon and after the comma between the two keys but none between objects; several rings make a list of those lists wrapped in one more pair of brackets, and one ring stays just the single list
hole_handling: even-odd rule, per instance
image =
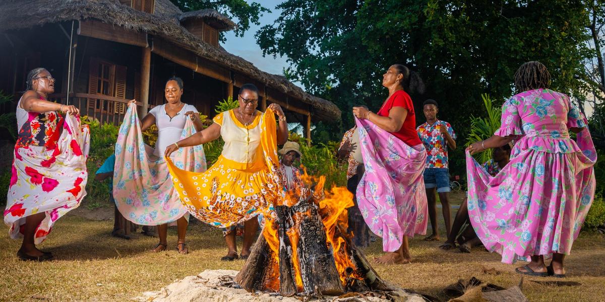
[{"label": "bright green spiky-leaved plant just left of woman seen from behind", "polygon": [[[500,117],[502,117],[502,109],[494,107],[491,98],[488,94],[482,94],[483,105],[487,112],[487,117],[471,117],[471,129],[466,136],[466,146],[476,142],[490,138],[494,132],[500,128]],[[485,162],[492,158],[492,149],[487,149],[481,153],[477,153],[475,158],[479,162]]]}]

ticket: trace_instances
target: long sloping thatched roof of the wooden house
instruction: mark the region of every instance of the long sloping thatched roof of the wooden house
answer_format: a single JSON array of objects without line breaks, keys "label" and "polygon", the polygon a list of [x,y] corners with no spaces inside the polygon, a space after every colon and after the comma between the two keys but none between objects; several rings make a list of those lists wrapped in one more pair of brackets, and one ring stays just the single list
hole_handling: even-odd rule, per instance
[{"label": "long sloping thatched roof of the wooden house", "polygon": [[[340,118],[341,111],[330,101],[307,94],[284,77],[261,71],[241,57],[212,47],[189,33],[178,23],[178,15],[182,12],[174,5],[171,7],[168,0],[156,0],[155,3],[160,4],[155,7],[155,14],[148,14],[122,5],[117,0],[6,0],[0,2],[0,31],[71,20],[97,19],[127,30],[160,36],[200,57],[220,63],[269,88],[298,98],[312,106],[315,119],[335,121]],[[171,16],[170,10],[177,11],[178,14]]]}]

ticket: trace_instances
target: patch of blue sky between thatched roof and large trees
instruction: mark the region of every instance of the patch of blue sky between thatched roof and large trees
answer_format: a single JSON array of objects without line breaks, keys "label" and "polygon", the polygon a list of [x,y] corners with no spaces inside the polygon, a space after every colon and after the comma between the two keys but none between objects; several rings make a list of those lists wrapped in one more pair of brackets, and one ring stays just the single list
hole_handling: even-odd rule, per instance
[{"label": "patch of blue sky between thatched roof and large trees", "polygon": [[226,42],[221,44],[221,46],[229,51],[229,53],[243,57],[247,61],[252,62],[254,66],[257,66],[257,68],[262,71],[272,74],[282,74],[283,68],[289,66],[286,62],[286,57],[276,57],[275,59],[273,59],[273,56],[263,57],[263,51],[258,47],[257,40],[254,37],[263,25],[273,24],[273,21],[280,16],[281,11],[275,10],[275,6],[280,4],[282,0],[255,1],[264,7],[269,8],[271,13],[263,14],[259,19],[260,25],[250,24],[249,30],[244,33],[243,37],[236,37],[233,31],[227,31],[225,33]]}]

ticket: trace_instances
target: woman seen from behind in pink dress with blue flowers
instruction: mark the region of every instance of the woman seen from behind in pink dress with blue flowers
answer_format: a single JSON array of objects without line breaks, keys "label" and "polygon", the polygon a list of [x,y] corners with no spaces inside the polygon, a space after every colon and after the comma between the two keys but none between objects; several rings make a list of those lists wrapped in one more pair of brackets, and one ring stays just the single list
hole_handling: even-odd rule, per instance
[{"label": "woman seen from behind in pink dress with blue flowers", "polygon": [[[515,73],[523,92],[503,104],[500,129],[466,149],[468,183],[474,184],[468,211],[477,236],[502,262],[529,257],[518,273],[564,277],[563,259],[594,199],[597,154],[586,118],[567,95],[548,89],[549,82],[540,62],[523,64]],[[513,139],[511,161],[494,177],[471,156]],[[552,256],[548,267],[545,256]]]}]

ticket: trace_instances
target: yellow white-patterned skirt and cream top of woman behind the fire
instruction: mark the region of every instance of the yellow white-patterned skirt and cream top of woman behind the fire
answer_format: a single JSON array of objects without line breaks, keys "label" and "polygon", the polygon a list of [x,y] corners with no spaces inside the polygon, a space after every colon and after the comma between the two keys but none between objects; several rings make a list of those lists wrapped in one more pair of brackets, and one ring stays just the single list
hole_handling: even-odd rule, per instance
[{"label": "yellow white-patterned skirt and cream top of woman behind the fire", "polygon": [[221,155],[204,173],[178,169],[169,158],[174,188],[189,213],[218,228],[229,229],[266,214],[280,196],[277,173],[276,121],[273,111],[257,111],[252,123],[244,125],[233,110],[214,119],[221,126],[225,144]]}]

